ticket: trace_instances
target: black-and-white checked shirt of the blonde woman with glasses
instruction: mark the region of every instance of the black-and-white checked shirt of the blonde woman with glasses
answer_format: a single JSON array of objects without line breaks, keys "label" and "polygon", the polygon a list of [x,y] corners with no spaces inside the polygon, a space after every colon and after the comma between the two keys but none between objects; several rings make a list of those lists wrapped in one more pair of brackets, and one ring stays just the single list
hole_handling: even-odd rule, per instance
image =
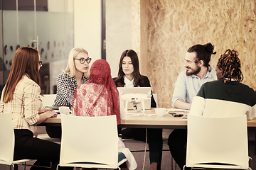
[{"label": "black-and-white checked shirt of the blonde woman with glasses", "polygon": [[[82,76],[82,84],[88,82],[89,78]],[[72,106],[71,101],[78,88],[78,83],[75,77],[70,77],[63,72],[57,77],[57,96],[54,101],[55,106]]]}]

